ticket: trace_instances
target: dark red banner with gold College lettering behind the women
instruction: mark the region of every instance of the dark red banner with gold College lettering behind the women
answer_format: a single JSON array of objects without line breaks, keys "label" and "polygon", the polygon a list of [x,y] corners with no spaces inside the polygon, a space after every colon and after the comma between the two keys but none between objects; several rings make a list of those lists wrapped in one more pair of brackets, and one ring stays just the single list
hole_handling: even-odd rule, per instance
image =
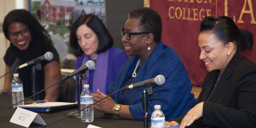
[{"label": "dark red banner with gold College lettering behind the women", "polygon": [[[150,0],[150,7],[162,18],[161,40],[178,53],[194,86],[202,86],[207,73],[198,47],[200,23],[205,16],[229,16],[239,29],[256,36],[256,0]],[[256,44],[242,55],[256,63]]]}]

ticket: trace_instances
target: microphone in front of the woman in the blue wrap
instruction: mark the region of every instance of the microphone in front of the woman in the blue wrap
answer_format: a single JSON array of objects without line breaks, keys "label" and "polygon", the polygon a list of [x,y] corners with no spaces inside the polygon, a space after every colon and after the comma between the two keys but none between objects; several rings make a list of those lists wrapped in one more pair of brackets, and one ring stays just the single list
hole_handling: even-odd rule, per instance
[{"label": "microphone in front of the woman in the blue wrap", "polygon": [[134,83],[128,86],[123,87],[123,90],[126,89],[133,89],[133,88],[140,88],[142,86],[146,86],[147,83],[157,84],[157,85],[163,85],[165,82],[165,78],[163,75],[157,75],[155,78],[148,79],[142,82]]}]

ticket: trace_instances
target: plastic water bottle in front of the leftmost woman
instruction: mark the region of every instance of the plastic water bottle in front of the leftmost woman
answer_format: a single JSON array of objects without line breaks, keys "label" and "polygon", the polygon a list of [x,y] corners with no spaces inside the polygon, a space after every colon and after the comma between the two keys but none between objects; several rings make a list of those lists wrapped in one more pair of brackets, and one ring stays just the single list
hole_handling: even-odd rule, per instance
[{"label": "plastic water bottle in front of the leftmost woman", "polygon": [[[12,101],[13,101],[13,104],[15,104],[24,99],[23,84],[19,78],[18,73],[13,74],[13,80],[11,85],[12,85]],[[13,108],[17,108],[19,105],[24,105],[24,101],[17,105],[14,105]]]}]

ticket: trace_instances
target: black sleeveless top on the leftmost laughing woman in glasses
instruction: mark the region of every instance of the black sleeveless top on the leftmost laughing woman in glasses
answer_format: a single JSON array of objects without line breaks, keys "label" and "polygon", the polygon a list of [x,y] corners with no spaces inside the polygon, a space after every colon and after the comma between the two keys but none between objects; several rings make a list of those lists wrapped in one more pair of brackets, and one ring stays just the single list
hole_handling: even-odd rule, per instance
[{"label": "black sleeveless top on the leftmost laughing woman in glasses", "polygon": [[[39,44],[40,45],[40,44]],[[36,48],[37,47],[37,48]],[[38,48],[39,47],[39,48]],[[10,67],[10,71],[26,63],[30,60],[33,60],[39,56],[44,55],[46,52],[53,53],[53,60],[59,62],[59,55],[56,49],[49,43],[48,45],[38,46],[36,43],[30,43],[29,47],[26,50],[19,50],[17,47],[10,44],[10,47],[6,50],[4,55],[4,62]],[[42,70],[36,72],[36,92],[44,89],[44,72],[43,69],[45,65],[51,61],[44,60],[41,62]],[[32,66],[28,66],[22,69],[17,70],[9,74],[10,82],[13,79],[13,73],[19,73],[19,78],[23,83],[24,97],[29,97],[32,95],[32,79],[31,79]],[[45,92],[39,93],[36,95],[36,99],[44,99]]]}]

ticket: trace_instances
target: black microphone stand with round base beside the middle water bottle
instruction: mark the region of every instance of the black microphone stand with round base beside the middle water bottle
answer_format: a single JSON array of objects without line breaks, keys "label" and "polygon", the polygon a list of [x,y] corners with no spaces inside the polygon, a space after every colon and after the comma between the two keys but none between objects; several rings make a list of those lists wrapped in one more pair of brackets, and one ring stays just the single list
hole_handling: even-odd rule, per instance
[{"label": "black microphone stand with round base beside the middle water bottle", "polygon": [[[85,74],[85,76],[86,76],[86,73],[83,73],[83,74]],[[78,75],[78,77],[77,77],[77,83],[76,83],[76,91],[77,91],[77,108],[78,108],[78,111],[80,111],[80,109],[81,109],[81,106],[80,106],[80,97],[81,97],[81,92],[82,92],[82,79],[85,81],[86,79],[88,79],[87,78],[87,76],[86,77],[84,77],[82,74],[79,74]],[[81,118],[81,113],[80,112],[78,112],[78,113],[76,113],[76,114],[74,114],[76,111],[73,111],[73,112],[69,112],[68,114],[67,114],[67,116],[69,116],[69,118]],[[73,115],[72,115],[73,114]]]}]

